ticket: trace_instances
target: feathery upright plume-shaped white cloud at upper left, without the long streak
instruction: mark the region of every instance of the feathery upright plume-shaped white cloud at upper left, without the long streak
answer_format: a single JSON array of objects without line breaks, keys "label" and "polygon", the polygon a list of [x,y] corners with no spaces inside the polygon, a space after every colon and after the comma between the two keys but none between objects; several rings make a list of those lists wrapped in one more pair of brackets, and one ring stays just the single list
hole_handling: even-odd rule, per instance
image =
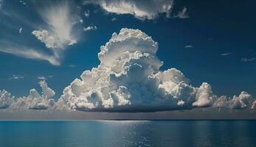
[{"label": "feathery upright plume-shaped white cloud at upper left, without the long streak", "polygon": [[60,62],[66,46],[72,46],[77,43],[74,26],[77,22],[83,23],[83,20],[75,19],[77,17],[72,15],[67,2],[46,7],[40,14],[47,26],[44,29],[32,31],[32,35],[35,35],[47,48],[51,49],[53,52],[52,57],[55,57],[55,60]]}]

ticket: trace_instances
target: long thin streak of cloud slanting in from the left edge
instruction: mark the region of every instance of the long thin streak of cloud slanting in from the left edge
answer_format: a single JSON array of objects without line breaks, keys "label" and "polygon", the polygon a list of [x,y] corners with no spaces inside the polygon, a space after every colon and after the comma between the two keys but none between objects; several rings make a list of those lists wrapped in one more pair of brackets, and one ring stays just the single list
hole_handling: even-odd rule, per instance
[{"label": "long thin streak of cloud slanting in from the left edge", "polygon": [[13,54],[18,57],[24,57],[28,59],[35,60],[46,60],[50,62],[52,65],[60,65],[60,62],[52,55],[44,54],[35,49],[30,49],[26,46],[12,46],[12,47],[1,47],[1,52],[7,54]]}]

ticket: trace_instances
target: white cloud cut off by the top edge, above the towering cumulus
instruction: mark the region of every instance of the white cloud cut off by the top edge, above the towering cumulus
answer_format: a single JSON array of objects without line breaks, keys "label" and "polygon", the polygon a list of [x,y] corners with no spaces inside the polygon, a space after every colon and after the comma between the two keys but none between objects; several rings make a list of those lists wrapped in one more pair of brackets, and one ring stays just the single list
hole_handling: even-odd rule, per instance
[{"label": "white cloud cut off by the top edge, above the towering cumulus", "polygon": [[170,17],[170,11],[173,7],[173,0],[89,0],[84,1],[84,4],[98,4],[106,12],[112,12],[116,14],[130,14],[139,19],[152,20],[159,17],[159,14],[161,13],[165,13],[167,18]]}]

